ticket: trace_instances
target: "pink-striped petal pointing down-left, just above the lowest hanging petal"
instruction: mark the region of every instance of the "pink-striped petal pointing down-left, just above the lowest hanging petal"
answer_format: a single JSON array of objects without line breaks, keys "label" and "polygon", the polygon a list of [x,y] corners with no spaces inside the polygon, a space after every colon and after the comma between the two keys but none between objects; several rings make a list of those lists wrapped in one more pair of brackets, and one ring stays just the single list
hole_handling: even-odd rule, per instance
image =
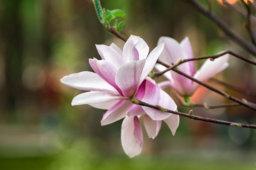
[{"label": "pink-striped petal pointing down-left, just above the lowest hanging petal", "polygon": [[120,100],[112,106],[102,117],[101,126],[112,124],[126,116],[127,110],[132,105],[132,102],[128,100]]}]

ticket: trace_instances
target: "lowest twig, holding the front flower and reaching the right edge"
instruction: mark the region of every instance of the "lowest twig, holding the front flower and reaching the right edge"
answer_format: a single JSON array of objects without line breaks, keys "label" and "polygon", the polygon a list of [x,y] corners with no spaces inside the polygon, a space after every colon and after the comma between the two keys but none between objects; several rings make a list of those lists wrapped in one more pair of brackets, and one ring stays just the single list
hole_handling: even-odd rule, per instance
[{"label": "lowest twig, holding the front flower and reaching the right edge", "polygon": [[150,107],[150,108],[155,108],[155,109],[158,109],[158,110],[161,110],[161,111],[164,111],[164,112],[173,113],[175,115],[189,117],[189,118],[194,119],[194,120],[207,121],[207,122],[211,122],[211,123],[215,123],[215,124],[222,124],[222,125],[229,125],[229,126],[237,126],[237,127],[243,127],[243,128],[256,129],[256,125],[253,125],[253,124],[240,124],[240,123],[231,122],[231,121],[223,121],[223,120],[218,120],[218,119],[211,119],[211,118],[208,118],[208,117],[195,116],[195,115],[192,115],[192,114],[177,112],[177,111],[169,110],[169,109],[166,109],[166,108],[159,108],[159,106],[155,106],[155,105],[152,105],[152,104],[147,104],[147,103],[142,102],[138,99],[136,100],[136,102],[134,104],[138,104],[140,106],[146,106],[146,107]]}]

